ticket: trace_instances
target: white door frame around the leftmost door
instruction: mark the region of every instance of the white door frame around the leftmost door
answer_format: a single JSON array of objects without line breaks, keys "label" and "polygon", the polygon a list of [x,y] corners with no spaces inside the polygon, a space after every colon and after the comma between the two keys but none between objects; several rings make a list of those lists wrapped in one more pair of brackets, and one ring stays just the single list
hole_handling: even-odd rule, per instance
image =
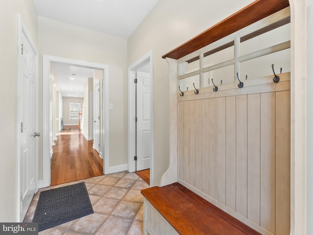
[{"label": "white door frame around the leftmost door", "polygon": [[[20,205],[21,205],[21,151],[20,151],[20,146],[22,144],[22,134],[21,134],[21,111],[22,111],[22,35],[25,35],[26,39],[29,41],[29,44],[31,45],[35,55],[36,55],[36,59],[35,59],[35,130],[38,131],[38,74],[39,74],[39,57],[38,57],[38,50],[35,47],[35,44],[33,43],[30,34],[27,31],[27,28],[25,26],[25,24],[22,21],[22,17],[19,14],[18,15],[18,104],[17,104],[17,109],[18,109],[18,113],[17,113],[17,221],[21,221],[21,212],[20,212]],[[36,191],[38,191],[38,138],[35,139],[35,143],[36,143],[36,147],[35,147],[35,180],[36,180]]]}]

